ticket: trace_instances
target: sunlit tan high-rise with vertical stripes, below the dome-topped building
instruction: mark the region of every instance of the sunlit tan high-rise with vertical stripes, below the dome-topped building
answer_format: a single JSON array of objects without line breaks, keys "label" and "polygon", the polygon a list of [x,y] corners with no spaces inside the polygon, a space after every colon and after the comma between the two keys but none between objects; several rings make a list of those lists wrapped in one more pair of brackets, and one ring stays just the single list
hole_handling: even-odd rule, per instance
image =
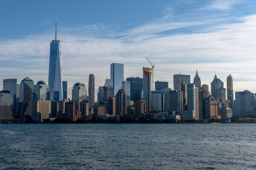
[{"label": "sunlit tan high-rise with vertical stripes, below the dome-topped building", "polygon": [[37,100],[36,118],[38,122],[51,118],[51,101],[45,99]]}]

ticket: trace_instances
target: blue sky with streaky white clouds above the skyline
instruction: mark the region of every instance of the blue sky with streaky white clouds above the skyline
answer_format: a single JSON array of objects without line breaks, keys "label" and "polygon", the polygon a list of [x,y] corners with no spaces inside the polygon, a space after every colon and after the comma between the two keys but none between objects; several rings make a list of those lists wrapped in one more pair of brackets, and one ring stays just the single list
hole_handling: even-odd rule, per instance
[{"label": "blue sky with streaky white clouds above the skyline", "polygon": [[254,0],[8,0],[0,10],[0,90],[3,79],[48,82],[49,47],[62,48],[68,97],[76,82],[95,75],[95,96],[110,64],[124,63],[124,77],[142,77],[154,63],[154,81],[198,69],[210,88],[215,72],[234,91],[256,92]]}]

